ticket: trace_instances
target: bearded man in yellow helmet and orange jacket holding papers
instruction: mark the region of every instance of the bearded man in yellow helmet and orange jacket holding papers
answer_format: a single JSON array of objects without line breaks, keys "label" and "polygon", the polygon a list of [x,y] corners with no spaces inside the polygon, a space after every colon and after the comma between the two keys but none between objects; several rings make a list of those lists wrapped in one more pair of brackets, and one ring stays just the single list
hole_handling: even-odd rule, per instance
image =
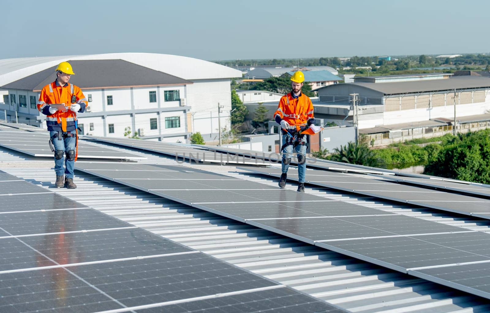
[{"label": "bearded man in yellow helmet and orange jacket holding papers", "polygon": [[277,111],[274,113],[274,119],[281,125],[282,132],[282,174],[279,187],[286,187],[286,177],[294,150],[298,159],[297,191],[299,192],[304,192],[307,136],[300,133],[316,122],[313,118],[313,104],[310,98],[301,92],[304,80],[301,71],[291,76],[293,90],[281,97]]}]

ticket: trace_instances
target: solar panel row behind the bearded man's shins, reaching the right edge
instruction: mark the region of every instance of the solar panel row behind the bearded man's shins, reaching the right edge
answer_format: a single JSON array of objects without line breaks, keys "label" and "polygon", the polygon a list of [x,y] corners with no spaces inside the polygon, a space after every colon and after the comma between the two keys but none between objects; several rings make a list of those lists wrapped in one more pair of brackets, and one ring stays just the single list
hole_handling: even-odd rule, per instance
[{"label": "solar panel row behind the bearded man's shins, reaching the right edge", "polygon": [[[273,177],[281,176],[281,170],[275,168],[243,169]],[[294,173],[288,174],[288,179],[297,180],[297,175]],[[401,185],[386,180],[366,179],[320,170],[308,170],[306,179],[307,183],[317,186],[486,219],[489,216],[485,214],[490,213],[490,200]]]}]

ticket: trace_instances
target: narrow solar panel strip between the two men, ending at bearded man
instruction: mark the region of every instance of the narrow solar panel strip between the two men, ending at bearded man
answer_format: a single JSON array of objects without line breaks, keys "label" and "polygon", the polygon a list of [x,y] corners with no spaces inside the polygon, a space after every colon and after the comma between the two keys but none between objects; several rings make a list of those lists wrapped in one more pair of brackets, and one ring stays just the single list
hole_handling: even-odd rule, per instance
[{"label": "narrow solar panel strip between the two men, ending at bearded man", "polygon": [[221,164],[249,164],[249,165],[264,165],[269,164],[262,160],[252,159],[250,157],[234,156],[232,154],[223,154],[217,152],[209,152],[207,149],[195,147],[185,144],[167,143],[161,141],[138,140],[128,138],[107,138],[107,137],[91,137],[98,141],[103,141],[111,144],[116,144],[124,147],[131,147],[140,150],[146,150],[173,156],[176,160],[183,158],[195,162],[203,163],[221,163]]}]

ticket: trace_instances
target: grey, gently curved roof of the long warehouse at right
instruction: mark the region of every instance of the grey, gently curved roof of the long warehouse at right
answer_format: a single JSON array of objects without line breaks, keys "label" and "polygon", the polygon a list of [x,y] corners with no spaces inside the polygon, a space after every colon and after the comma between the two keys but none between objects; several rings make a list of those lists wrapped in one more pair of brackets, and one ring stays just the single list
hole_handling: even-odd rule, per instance
[{"label": "grey, gently curved roof of the long warehouse at right", "polygon": [[[323,87],[338,88],[343,84],[336,84]],[[351,89],[356,87],[367,88],[381,92],[385,95],[389,94],[405,94],[418,92],[446,91],[453,89],[479,89],[490,88],[490,78],[482,76],[458,76],[448,79],[422,80],[413,82],[393,82],[393,83],[349,83]]]}]

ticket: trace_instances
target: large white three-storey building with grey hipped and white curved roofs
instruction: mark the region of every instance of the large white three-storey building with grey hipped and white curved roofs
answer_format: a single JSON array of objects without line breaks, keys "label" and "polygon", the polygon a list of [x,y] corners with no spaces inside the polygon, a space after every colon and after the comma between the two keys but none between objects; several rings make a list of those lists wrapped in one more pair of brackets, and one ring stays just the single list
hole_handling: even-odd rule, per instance
[{"label": "large white three-storey building with grey hipped and white curved roofs", "polygon": [[[205,140],[230,129],[230,78],[239,70],[168,54],[110,53],[0,60],[0,120],[45,126],[35,103],[54,69],[69,61],[89,108],[78,114],[83,134],[122,137],[130,127],[142,139],[185,142],[200,132]],[[3,99],[1,98],[3,95]]]}]

